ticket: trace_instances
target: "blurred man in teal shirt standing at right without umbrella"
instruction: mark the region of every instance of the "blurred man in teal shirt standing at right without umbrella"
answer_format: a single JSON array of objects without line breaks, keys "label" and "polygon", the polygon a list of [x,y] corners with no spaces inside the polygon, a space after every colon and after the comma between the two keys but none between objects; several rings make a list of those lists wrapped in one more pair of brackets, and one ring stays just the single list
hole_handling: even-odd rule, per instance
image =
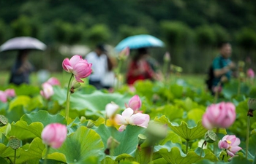
[{"label": "blurred man in teal shirt standing at right without umbrella", "polygon": [[230,81],[232,71],[236,69],[236,64],[230,60],[232,54],[231,44],[222,42],[218,45],[218,48],[219,55],[212,62],[214,77],[212,79],[211,93],[213,94],[219,90],[217,86],[223,86],[224,82]]}]

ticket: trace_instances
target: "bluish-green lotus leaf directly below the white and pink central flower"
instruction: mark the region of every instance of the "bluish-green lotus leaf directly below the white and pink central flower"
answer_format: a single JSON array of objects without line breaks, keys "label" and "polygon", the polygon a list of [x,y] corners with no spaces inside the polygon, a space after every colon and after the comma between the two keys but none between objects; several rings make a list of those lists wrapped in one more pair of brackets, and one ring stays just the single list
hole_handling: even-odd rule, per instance
[{"label": "bluish-green lotus leaf directly below the white and pink central flower", "polygon": [[135,157],[135,150],[138,145],[138,135],[144,133],[146,128],[135,125],[127,125],[126,130],[119,132],[116,128],[100,125],[96,132],[102,137],[102,141],[107,147],[107,141],[110,136],[115,138],[120,144],[116,149],[111,150],[113,160],[122,160],[126,157]]}]

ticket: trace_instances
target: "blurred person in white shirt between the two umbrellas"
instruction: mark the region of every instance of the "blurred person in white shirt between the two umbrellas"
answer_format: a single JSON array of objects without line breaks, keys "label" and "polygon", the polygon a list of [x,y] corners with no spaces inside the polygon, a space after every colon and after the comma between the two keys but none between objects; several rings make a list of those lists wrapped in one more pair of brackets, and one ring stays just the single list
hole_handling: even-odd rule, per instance
[{"label": "blurred person in white shirt between the two umbrellas", "polygon": [[112,87],[111,84],[107,84],[104,81],[105,78],[107,78],[105,77],[106,74],[109,75],[109,71],[113,69],[113,64],[107,54],[105,45],[97,44],[95,50],[86,55],[86,60],[88,60],[89,63],[92,63],[91,68],[93,70],[92,74],[89,76],[89,85],[94,85],[97,90],[102,88],[109,89]]}]

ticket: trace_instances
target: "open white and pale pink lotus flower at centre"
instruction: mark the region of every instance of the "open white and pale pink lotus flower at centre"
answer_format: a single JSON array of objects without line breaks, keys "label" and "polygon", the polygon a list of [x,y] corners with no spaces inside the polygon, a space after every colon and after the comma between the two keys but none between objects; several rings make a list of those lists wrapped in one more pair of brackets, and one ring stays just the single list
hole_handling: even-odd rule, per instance
[{"label": "open white and pale pink lotus flower at centre", "polygon": [[130,108],[127,108],[122,112],[122,114],[116,114],[115,118],[118,125],[121,125],[118,131],[124,131],[127,125],[138,125],[143,128],[148,127],[148,122],[150,120],[148,114],[137,113]]}]

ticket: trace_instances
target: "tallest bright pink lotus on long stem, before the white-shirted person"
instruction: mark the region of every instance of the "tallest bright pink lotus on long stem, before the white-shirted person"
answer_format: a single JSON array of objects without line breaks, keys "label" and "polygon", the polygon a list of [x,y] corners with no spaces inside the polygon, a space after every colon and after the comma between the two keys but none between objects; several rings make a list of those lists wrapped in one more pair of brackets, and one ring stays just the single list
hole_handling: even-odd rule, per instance
[{"label": "tallest bright pink lotus on long stem, before the white-shirted person", "polygon": [[70,60],[65,58],[62,62],[62,67],[65,71],[74,74],[78,82],[83,82],[83,78],[89,77],[91,74],[91,63],[83,60],[80,55],[74,55]]}]

